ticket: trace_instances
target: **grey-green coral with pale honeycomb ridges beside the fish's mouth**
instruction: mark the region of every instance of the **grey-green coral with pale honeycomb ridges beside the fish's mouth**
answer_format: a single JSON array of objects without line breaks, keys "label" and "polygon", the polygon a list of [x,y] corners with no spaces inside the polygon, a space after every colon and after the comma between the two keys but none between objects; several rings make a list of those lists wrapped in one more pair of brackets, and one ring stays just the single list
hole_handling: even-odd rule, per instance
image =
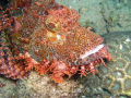
[{"label": "grey-green coral with pale honeycomb ridges beside the fish's mouth", "polygon": [[83,77],[82,98],[131,97],[131,32],[104,35],[115,62],[100,65],[95,76]]}]

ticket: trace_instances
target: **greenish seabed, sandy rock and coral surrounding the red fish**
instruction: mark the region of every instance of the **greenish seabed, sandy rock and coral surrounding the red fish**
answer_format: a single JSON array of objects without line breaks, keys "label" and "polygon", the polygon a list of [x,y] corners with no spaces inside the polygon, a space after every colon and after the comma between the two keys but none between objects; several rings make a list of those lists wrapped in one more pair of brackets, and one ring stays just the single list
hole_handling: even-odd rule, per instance
[{"label": "greenish seabed, sandy rock and coral surrounding the red fish", "polygon": [[16,85],[1,76],[0,98],[131,98],[131,0],[56,2],[78,11],[81,25],[104,38],[115,61],[99,65],[95,76],[75,75],[63,84],[55,84],[48,74],[40,76],[35,71]]}]

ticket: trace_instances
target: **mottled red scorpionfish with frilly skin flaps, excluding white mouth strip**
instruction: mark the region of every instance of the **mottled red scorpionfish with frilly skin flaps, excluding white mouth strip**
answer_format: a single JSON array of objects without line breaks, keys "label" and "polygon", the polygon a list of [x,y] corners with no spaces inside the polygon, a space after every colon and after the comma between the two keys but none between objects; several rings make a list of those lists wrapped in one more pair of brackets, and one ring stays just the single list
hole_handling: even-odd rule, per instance
[{"label": "mottled red scorpionfish with frilly skin flaps, excluding white mouth strip", "polygon": [[[0,74],[5,77],[20,79],[35,69],[40,75],[49,73],[56,83],[63,83],[64,75],[95,75],[99,63],[106,65],[104,59],[114,60],[106,45],[80,60],[81,54],[100,45],[103,38],[92,33],[91,27],[81,27],[80,15],[74,10],[53,0],[35,2],[34,7],[17,2],[17,7],[27,7],[22,16],[3,16],[7,26],[2,29],[7,29],[4,37],[10,41],[8,46],[0,37]],[[11,10],[11,15],[15,9]],[[8,57],[4,57],[4,49]]]}]

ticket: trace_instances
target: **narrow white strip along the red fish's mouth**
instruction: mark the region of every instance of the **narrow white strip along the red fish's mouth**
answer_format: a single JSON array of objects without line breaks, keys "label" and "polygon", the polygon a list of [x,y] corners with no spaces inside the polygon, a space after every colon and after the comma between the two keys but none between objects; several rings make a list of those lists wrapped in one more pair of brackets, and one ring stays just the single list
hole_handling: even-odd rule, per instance
[{"label": "narrow white strip along the red fish's mouth", "polygon": [[100,44],[100,45],[97,45],[95,48],[93,48],[92,50],[90,51],[86,51],[84,54],[81,54],[80,56],[80,59],[85,59],[86,57],[93,54],[93,53],[96,53],[98,52],[102,48],[104,48],[104,44]]}]

